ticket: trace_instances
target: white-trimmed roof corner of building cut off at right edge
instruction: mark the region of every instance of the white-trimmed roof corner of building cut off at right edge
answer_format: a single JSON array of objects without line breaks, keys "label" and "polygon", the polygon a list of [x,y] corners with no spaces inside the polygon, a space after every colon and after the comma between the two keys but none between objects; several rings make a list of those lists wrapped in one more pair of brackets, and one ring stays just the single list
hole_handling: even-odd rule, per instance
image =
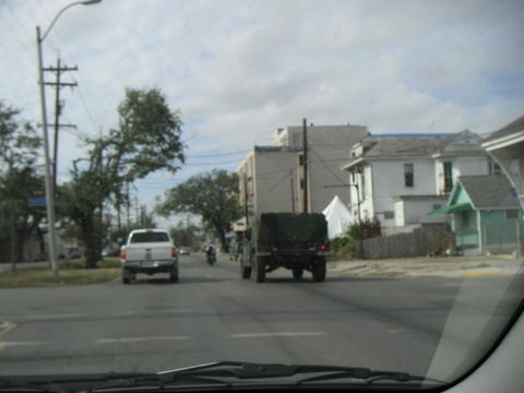
[{"label": "white-trimmed roof corner of building cut off at right edge", "polygon": [[504,169],[524,207],[524,116],[487,136],[483,147]]}]

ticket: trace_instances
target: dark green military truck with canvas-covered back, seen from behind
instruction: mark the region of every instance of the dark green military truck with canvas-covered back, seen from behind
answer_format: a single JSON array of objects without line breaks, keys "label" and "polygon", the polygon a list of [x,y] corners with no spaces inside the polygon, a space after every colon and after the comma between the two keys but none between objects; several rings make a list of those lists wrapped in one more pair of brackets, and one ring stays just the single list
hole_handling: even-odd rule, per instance
[{"label": "dark green military truck with canvas-covered back, seen from behind", "polygon": [[311,272],[314,282],[325,279],[329,249],[327,223],[321,213],[263,213],[247,234],[240,260],[242,278],[257,283],[278,267],[301,279]]}]

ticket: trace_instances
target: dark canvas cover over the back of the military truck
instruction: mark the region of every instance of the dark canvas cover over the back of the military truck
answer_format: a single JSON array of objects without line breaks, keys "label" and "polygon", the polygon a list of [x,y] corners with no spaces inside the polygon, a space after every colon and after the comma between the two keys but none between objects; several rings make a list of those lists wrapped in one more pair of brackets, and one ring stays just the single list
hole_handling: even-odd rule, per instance
[{"label": "dark canvas cover over the back of the military truck", "polygon": [[322,213],[264,213],[258,224],[259,243],[327,241]]}]

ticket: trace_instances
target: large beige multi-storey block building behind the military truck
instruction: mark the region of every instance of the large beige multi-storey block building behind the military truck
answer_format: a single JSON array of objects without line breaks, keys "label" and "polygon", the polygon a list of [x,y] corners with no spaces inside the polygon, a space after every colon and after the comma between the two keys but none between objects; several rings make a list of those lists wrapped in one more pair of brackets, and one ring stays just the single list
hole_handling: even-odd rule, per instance
[{"label": "large beige multi-storey block building behind the military truck", "polygon": [[[362,126],[313,126],[308,135],[308,211],[322,212],[336,194],[349,203],[346,172],[350,146],[368,134]],[[249,221],[264,212],[301,212],[303,206],[303,129],[275,130],[269,146],[254,146],[236,172],[240,180],[240,201]],[[234,225],[246,228],[246,217]]]}]

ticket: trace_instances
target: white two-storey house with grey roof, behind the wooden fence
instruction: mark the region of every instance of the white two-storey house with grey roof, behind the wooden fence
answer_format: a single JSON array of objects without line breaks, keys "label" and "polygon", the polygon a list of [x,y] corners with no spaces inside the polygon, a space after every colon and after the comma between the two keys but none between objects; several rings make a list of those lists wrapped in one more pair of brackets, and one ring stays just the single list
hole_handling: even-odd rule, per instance
[{"label": "white two-storey house with grey roof, behind the wooden fence", "polygon": [[352,222],[377,218],[386,234],[445,223],[426,213],[445,203],[456,178],[497,170],[480,138],[468,130],[371,134],[352,147],[343,168],[349,172]]}]

